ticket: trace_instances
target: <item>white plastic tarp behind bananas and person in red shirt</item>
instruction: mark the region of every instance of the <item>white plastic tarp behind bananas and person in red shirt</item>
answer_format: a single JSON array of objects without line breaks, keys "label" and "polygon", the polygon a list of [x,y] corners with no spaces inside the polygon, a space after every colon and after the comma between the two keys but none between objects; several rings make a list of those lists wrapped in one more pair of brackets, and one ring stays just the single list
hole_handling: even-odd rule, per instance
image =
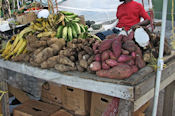
[{"label": "white plastic tarp behind bananas and person in red shirt", "polygon": [[[40,0],[37,0],[40,1]],[[41,0],[47,5],[47,0]],[[55,0],[52,0],[55,4]],[[142,3],[142,0],[135,0]],[[151,1],[151,0],[150,0]],[[59,10],[72,11],[84,15],[86,20],[104,22],[116,18],[119,0],[57,0]],[[148,0],[144,0],[145,10],[149,9]]]}]

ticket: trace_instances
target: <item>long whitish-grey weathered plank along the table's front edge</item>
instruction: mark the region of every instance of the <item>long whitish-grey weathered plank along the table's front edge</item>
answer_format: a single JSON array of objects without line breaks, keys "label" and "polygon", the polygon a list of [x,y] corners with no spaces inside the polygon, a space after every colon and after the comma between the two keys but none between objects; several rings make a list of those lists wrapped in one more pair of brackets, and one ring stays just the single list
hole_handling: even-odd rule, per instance
[{"label": "long whitish-grey weathered plank along the table's front edge", "polygon": [[74,88],[119,97],[122,99],[133,100],[133,87],[81,78],[82,75],[86,75],[87,73],[74,72],[73,74],[63,74],[56,71],[43,70],[25,64],[2,60],[0,60],[0,67],[42,80],[55,82],[57,84],[67,85]]}]

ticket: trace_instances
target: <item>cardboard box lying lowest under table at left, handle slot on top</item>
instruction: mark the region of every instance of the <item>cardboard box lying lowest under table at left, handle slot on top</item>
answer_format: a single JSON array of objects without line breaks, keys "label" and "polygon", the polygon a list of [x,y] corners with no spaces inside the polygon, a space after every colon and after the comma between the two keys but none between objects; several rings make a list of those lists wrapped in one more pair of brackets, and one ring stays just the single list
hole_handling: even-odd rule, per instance
[{"label": "cardboard box lying lowest under table at left, handle slot on top", "polygon": [[59,109],[59,106],[29,100],[17,106],[13,111],[13,116],[53,116]]}]

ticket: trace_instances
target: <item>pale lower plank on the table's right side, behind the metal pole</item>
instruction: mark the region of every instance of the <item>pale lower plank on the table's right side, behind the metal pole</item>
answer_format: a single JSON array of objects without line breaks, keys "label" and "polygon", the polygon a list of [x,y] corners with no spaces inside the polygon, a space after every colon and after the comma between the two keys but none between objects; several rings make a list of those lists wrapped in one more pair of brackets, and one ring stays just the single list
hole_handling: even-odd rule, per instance
[{"label": "pale lower plank on the table's right side, behind the metal pole", "polygon": [[[169,76],[167,79],[163,80],[160,84],[160,91],[168,86],[171,82],[175,80],[175,73]],[[149,86],[149,85],[148,85]],[[136,101],[134,101],[134,111],[137,111],[142,105],[148,102],[154,96],[154,88],[142,95]]]}]

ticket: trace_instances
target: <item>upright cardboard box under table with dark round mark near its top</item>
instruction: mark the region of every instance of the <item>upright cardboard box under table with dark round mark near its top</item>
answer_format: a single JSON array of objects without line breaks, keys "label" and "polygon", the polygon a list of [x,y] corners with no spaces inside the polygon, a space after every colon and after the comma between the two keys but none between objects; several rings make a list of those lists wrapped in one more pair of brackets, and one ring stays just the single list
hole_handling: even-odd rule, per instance
[{"label": "upright cardboard box under table with dark round mark near its top", "polygon": [[61,85],[46,82],[42,85],[42,91],[41,91],[41,100],[54,104],[54,105],[61,105]]}]

